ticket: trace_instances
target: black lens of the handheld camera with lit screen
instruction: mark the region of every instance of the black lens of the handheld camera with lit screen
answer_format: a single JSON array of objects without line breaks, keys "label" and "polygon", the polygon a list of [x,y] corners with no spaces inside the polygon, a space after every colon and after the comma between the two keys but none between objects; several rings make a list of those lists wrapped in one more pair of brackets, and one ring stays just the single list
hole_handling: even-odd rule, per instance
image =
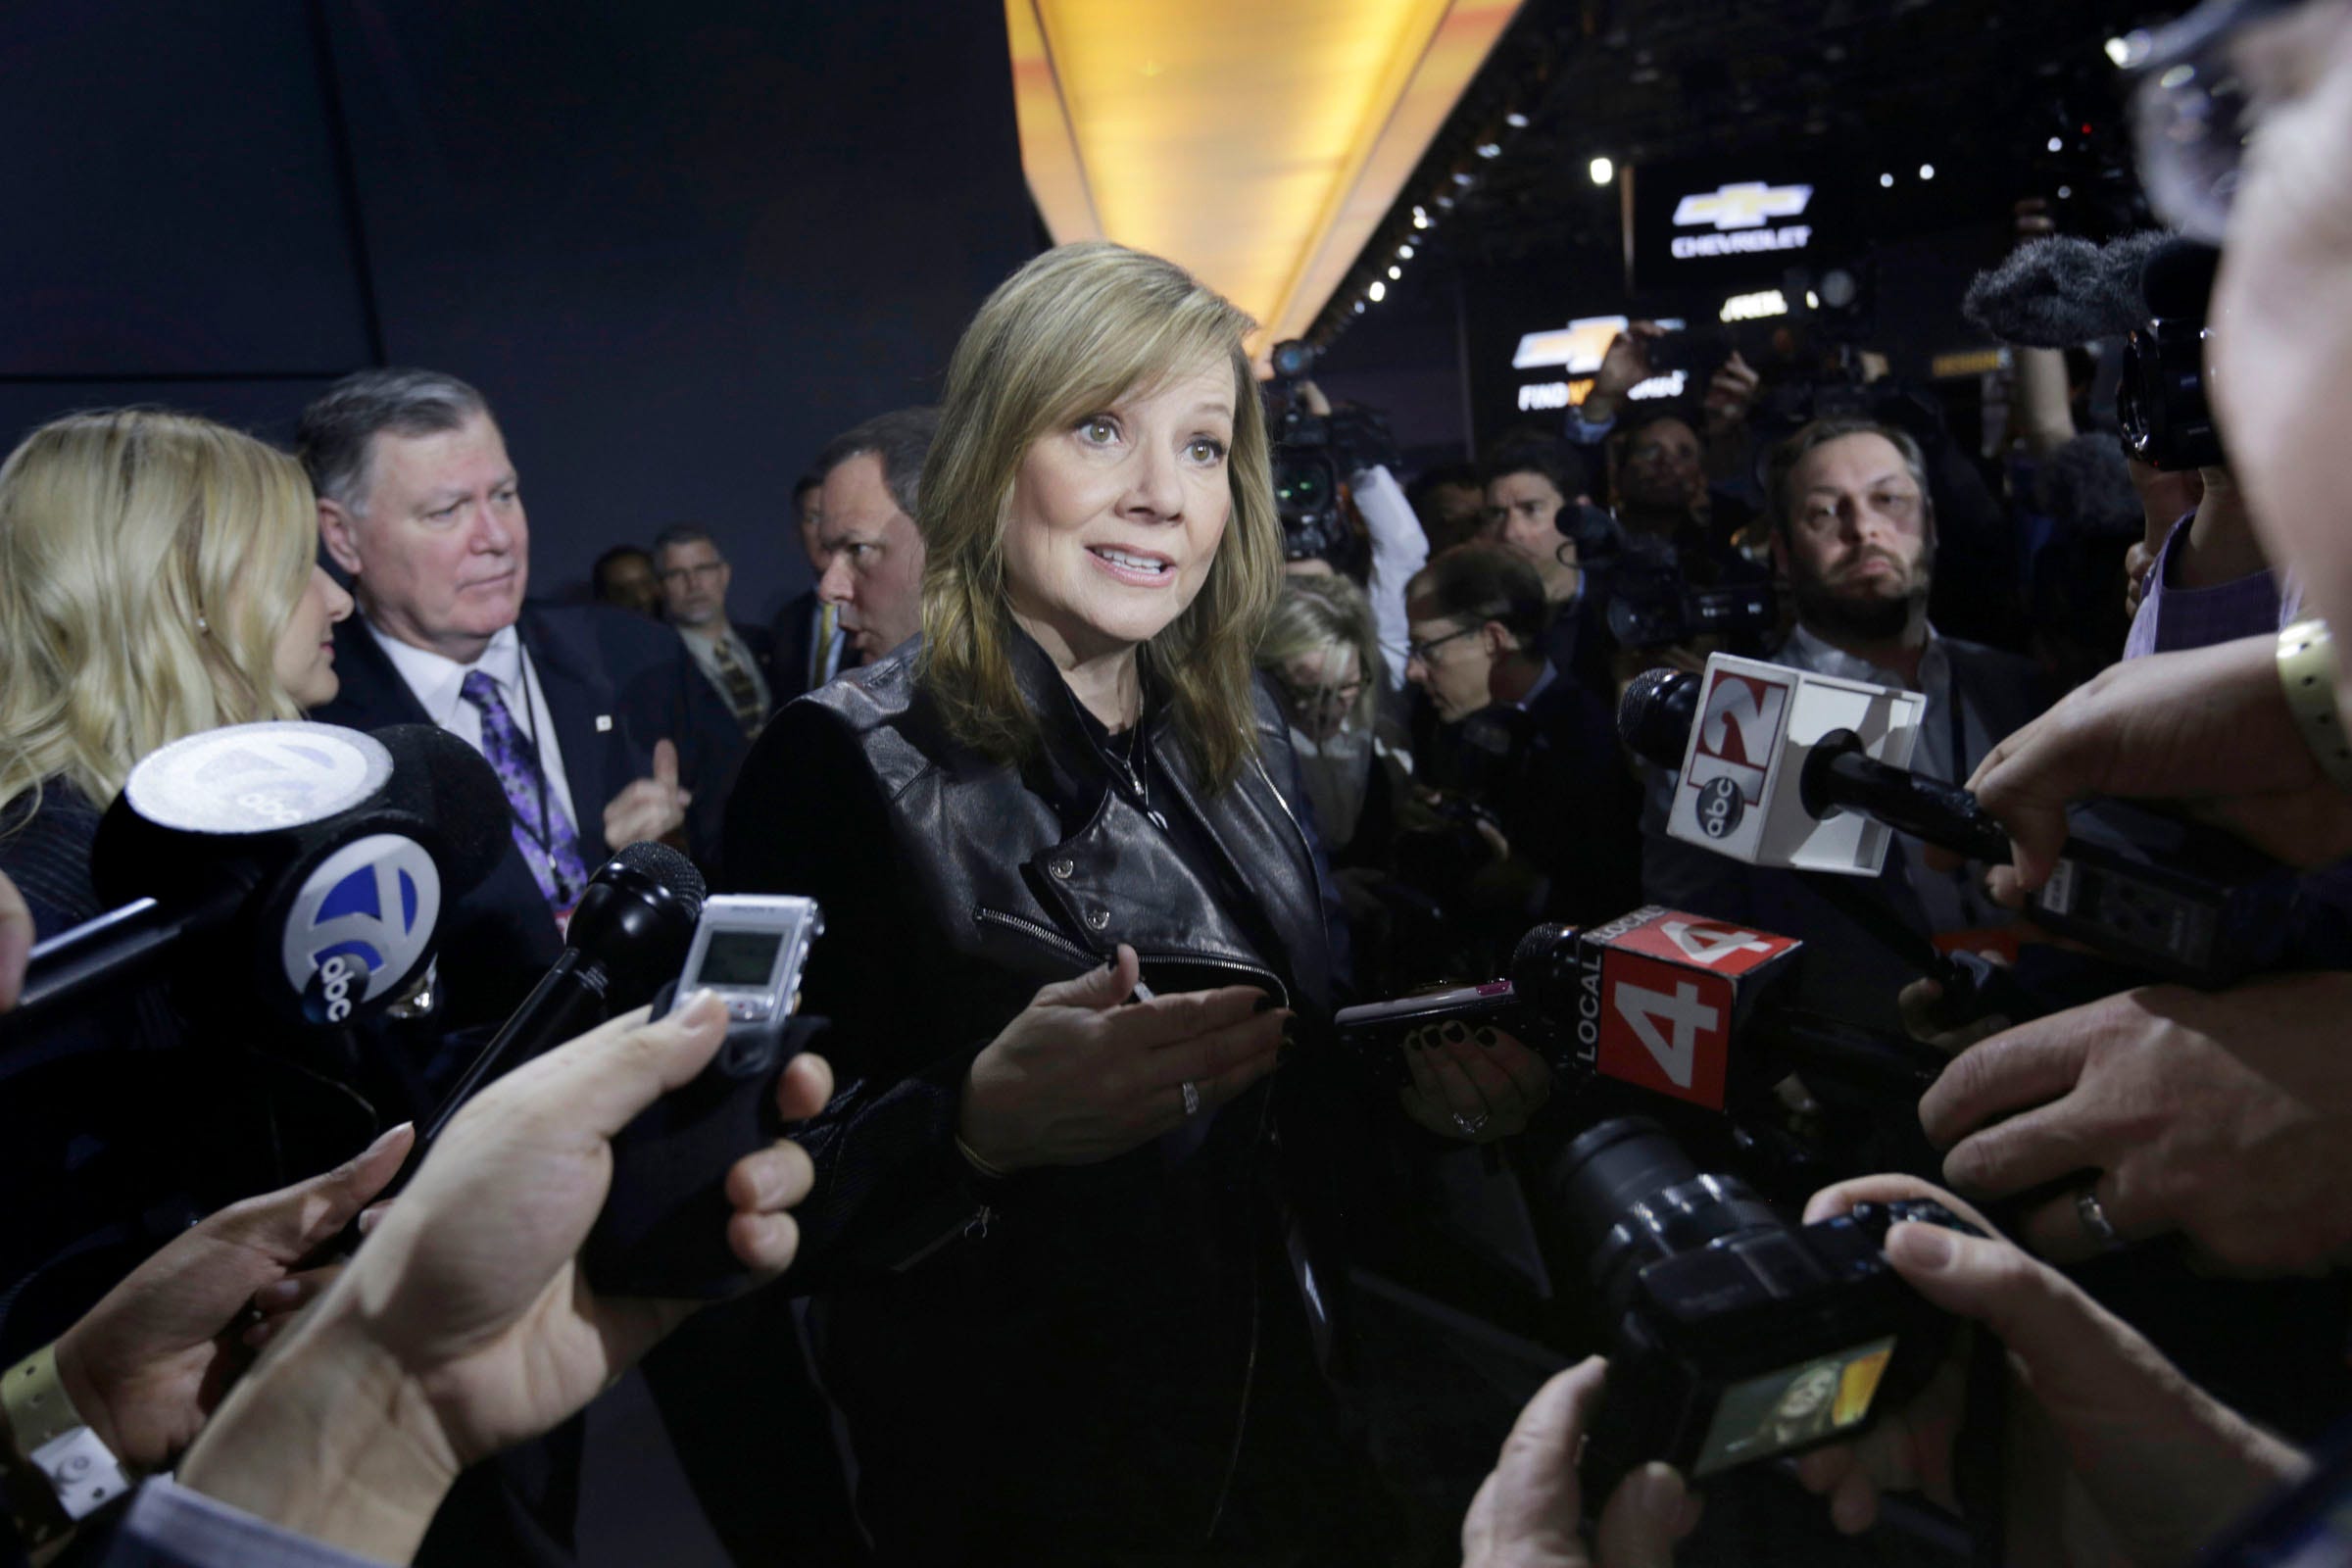
[{"label": "black lens of the handheld camera with lit screen", "polygon": [[1604,1324],[1625,1321],[1646,1265],[1724,1237],[1788,1229],[1740,1178],[1703,1175],[1649,1117],[1585,1128],[1552,1161],[1548,1185],[1599,1293]]}]

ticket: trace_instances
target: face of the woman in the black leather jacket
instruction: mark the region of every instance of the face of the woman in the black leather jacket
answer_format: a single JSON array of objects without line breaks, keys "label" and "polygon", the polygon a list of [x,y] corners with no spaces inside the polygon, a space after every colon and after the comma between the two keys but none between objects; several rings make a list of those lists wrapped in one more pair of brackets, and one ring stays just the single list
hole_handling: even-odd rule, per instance
[{"label": "face of the woman in the black leather jacket", "polygon": [[1089,661],[1164,630],[1209,578],[1232,515],[1232,369],[1122,395],[1030,444],[1014,475],[1004,576],[1049,654]]}]

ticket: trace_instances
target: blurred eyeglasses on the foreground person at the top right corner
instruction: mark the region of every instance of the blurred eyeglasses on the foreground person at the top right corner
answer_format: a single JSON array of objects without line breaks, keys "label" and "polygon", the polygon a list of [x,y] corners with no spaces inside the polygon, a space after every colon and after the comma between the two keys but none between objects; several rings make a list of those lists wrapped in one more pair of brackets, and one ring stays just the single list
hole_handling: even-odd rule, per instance
[{"label": "blurred eyeglasses on the foreground person at the top right corner", "polygon": [[2253,26],[2284,16],[2296,0],[2206,0],[2154,35],[2129,40],[2131,134],[2140,183],[2159,219],[2194,240],[2220,244],[2237,195],[2246,141],[2263,99],[2239,73],[2234,47]]}]

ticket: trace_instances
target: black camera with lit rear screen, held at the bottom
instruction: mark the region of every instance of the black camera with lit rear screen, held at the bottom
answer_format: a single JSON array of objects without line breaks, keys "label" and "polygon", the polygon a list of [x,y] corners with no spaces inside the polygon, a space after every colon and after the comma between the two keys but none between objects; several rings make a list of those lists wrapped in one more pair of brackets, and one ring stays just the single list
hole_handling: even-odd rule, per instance
[{"label": "black camera with lit rear screen, held at the bottom", "polygon": [[1740,1178],[1700,1173],[1644,1117],[1581,1133],[1545,1190],[1585,1260],[1609,1352],[1583,1460],[1595,1507],[1649,1460],[1708,1476],[1853,1439],[1910,1401],[1950,1349],[1952,1319],[1886,1262],[1886,1229],[1983,1234],[1931,1201],[1790,1225]]}]

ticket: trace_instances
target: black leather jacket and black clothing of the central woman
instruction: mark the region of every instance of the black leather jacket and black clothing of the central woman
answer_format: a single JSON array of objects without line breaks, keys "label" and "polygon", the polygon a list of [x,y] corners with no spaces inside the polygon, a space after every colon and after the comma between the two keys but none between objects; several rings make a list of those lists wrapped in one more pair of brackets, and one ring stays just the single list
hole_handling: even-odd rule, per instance
[{"label": "black leather jacket and black clothing of the central woman", "polygon": [[1275,788],[1287,731],[1261,693],[1263,752],[1211,795],[1148,724],[1150,806],[1183,813],[1183,853],[1110,788],[1035,644],[1016,668],[1044,748],[1021,769],[948,736],[915,646],[767,726],[722,856],[739,889],[826,907],[802,997],[833,1018],[837,1095],[795,1131],[818,1178],[793,1281],[828,1291],[863,1514],[887,1561],[1200,1544],[1244,1406],[1291,1453],[1329,1432],[1303,1413],[1329,1324],[1301,1302],[1336,1293],[1308,1234],[1329,1234],[1367,1103],[1310,1030],[1204,1124],[1094,1166],[985,1182],[953,1128],[971,1058],[1122,940],[1155,992],[1256,983],[1327,1016],[1312,844]]}]

